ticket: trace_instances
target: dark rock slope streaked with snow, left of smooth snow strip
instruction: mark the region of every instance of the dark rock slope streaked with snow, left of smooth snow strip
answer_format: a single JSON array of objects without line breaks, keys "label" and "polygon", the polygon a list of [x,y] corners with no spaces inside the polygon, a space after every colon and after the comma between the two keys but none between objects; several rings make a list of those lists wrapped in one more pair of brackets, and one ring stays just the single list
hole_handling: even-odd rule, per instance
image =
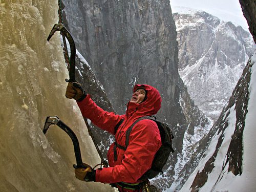
[{"label": "dark rock slope streaked with snow, left of smooth snow strip", "polygon": [[205,191],[210,190],[211,187],[214,189],[223,175],[228,172],[234,176],[242,174],[243,131],[249,100],[252,64],[249,60],[219,119],[212,126],[209,134],[197,143],[194,158],[191,158],[180,173],[181,179],[177,190],[180,190],[187,176],[191,174],[191,170],[193,172],[193,167],[197,169],[181,191],[188,191],[188,189],[189,191],[199,189]]}]

